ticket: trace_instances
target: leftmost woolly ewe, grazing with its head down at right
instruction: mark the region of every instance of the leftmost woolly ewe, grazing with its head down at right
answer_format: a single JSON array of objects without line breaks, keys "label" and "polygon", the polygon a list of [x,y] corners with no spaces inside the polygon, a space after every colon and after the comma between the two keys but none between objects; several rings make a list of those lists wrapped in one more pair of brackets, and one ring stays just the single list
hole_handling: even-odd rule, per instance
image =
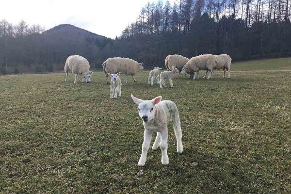
[{"label": "leftmost woolly ewe, grazing with its head down at right", "polygon": [[79,75],[82,76],[82,82],[89,83],[91,81],[92,71],[89,70],[90,65],[87,59],[79,55],[71,55],[65,62],[65,81],[67,80],[69,70],[75,74],[74,83],[79,80]]}]

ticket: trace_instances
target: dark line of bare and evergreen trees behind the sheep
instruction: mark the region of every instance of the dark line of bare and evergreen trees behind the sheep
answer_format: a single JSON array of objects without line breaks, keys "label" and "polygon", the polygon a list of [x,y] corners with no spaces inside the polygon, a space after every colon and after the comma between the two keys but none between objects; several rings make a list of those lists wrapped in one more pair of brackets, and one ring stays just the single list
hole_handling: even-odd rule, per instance
[{"label": "dark line of bare and evergreen trees behind the sheep", "polygon": [[290,0],[158,0],[147,3],[115,40],[89,32],[81,37],[79,31],[55,40],[40,25],[22,20],[14,26],[2,19],[0,73],[61,70],[72,54],[96,68],[115,56],[144,62],[146,68],[163,67],[169,54],[226,53],[233,61],[290,56],[290,15]]}]

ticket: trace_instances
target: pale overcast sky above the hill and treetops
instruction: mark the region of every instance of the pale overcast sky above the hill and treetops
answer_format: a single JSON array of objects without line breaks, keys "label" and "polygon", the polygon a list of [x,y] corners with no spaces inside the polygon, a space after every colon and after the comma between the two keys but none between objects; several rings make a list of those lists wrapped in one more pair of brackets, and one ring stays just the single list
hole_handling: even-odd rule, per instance
[{"label": "pale overcast sky above the hill and treetops", "polygon": [[[0,19],[40,24],[46,30],[73,24],[107,37],[119,36],[147,2],[157,0],[1,0]],[[165,1],[165,0],[163,0]],[[170,0],[174,2],[174,0]]]}]

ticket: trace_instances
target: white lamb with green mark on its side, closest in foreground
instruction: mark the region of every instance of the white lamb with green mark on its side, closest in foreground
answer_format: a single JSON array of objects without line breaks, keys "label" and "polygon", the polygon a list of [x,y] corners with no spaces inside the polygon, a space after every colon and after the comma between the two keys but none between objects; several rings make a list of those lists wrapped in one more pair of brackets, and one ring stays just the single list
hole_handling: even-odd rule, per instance
[{"label": "white lamb with green mark on its side, closest in foreground", "polygon": [[177,138],[177,152],[183,152],[182,130],[176,104],[170,100],[161,101],[161,96],[152,100],[142,100],[134,97],[133,95],[131,95],[131,98],[135,103],[138,104],[139,116],[143,119],[145,128],[142,155],[137,165],[144,166],[146,163],[146,154],[150,146],[153,132],[157,132],[157,137],[152,146],[152,149],[156,150],[160,145],[162,150],[162,164],[167,165],[169,163],[167,154],[168,121],[173,121],[173,128]]}]

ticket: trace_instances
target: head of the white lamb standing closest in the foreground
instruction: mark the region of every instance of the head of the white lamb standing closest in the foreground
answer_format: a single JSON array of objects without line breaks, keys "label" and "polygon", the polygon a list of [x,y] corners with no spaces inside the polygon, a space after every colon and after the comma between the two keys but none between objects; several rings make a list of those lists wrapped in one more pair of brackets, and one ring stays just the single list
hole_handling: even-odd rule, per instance
[{"label": "head of the white lamb standing closest in the foreground", "polygon": [[152,100],[142,100],[131,95],[131,98],[135,103],[138,104],[138,113],[139,116],[143,119],[144,122],[152,120],[155,116],[156,108],[155,105],[161,102],[162,97],[156,97]]}]

